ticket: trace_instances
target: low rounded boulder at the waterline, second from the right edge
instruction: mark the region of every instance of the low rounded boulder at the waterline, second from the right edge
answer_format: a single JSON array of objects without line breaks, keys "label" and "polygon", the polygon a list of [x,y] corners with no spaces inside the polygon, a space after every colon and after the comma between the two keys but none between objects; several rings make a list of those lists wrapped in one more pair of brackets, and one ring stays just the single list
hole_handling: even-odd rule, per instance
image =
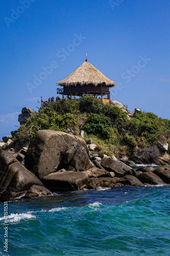
[{"label": "low rounded boulder at the waterline, second from the right edge", "polygon": [[156,174],[147,172],[142,173],[137,177],[142,183],[148,183],[151,185],[162,185],[165,184]]}]

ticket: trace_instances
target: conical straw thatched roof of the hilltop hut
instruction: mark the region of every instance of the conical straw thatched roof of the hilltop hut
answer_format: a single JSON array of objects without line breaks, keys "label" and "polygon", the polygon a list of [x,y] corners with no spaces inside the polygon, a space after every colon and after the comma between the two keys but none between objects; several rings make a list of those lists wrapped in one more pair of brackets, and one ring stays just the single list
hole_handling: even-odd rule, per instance
[{"label": "conical straw thatched roof of the hilltop hut", "polygon": [[115,82],[107,78],[102,74],[98,69],[94,68],[91,63],[85,61],[82,65],[72,72],[65,79],[57,82],[59,86],[87,86],[92,84],[94,86],[103,86],[113,87]]}]

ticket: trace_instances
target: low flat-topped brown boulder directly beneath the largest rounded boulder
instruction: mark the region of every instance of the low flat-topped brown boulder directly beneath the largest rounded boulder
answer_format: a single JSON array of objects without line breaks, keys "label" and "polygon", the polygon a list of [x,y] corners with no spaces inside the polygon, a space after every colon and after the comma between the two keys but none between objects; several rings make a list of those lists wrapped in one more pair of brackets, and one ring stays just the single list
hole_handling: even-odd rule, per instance
[{"label": "low flat-topped brown boulder directly beneath the largest rounded boulder", "polygon": [[42,182],[51,191],[80,190],[86,187],[88,175],[85,172],[57,172],[43,177]]}]

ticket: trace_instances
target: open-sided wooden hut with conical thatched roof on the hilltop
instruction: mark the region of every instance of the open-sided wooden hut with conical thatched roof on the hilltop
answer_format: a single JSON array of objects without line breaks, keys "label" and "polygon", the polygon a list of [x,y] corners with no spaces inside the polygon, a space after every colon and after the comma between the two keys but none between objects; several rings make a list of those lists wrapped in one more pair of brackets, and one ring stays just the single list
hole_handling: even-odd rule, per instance
[{"label": "open-sided wooden hut with conical thatched roof on the hilltop", "polygon": [[105,103],[110,103],[109,87],[114,87],[115,82],[107,78],[86,59],[82,65],[65,79],[57,82],[63,89],[57,89],[58,94],[67,97],[93,95]]}]

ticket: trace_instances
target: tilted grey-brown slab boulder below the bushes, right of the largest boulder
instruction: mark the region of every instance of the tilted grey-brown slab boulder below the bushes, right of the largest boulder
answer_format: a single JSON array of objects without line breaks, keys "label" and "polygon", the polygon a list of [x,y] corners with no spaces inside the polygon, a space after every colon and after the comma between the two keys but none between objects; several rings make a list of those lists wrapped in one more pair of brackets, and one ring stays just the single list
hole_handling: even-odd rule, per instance
[{"label": "tilted grey-brown slab boulder below the bushes, right of the largest boulder", "polygon": [[115,177],[123,177],[132,168],[119,160],[113,160],[112,158],[103,158],[101,165],[108,172],[114,172]]}]

